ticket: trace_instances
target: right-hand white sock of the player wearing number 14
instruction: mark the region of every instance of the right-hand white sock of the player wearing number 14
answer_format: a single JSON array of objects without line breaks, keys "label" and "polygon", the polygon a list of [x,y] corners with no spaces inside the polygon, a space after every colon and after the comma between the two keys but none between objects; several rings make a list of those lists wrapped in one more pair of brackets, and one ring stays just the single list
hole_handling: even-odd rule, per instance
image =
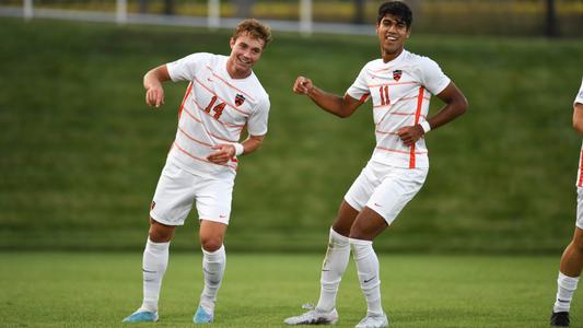
[{"label": "right-hand white sock of the player wearing number 14", "polygon": [[207,313],[213,313],[217,293],[223,280],[226,255],[224,245],[214,251],[202,249],[202,272],[205,276],[205,289],[200,295],[200,306]]}]

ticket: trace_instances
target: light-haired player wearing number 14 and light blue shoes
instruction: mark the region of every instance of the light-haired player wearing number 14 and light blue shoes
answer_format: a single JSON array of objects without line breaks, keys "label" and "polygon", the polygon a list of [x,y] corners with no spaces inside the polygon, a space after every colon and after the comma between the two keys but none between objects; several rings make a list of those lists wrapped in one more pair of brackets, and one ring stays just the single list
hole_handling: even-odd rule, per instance
[{"label": "light-haired player wearing number 14 and light blue shoes", "polygon": [[[158,320],[170,242],[195,201],[200,220],[205,288],[193,320],[195,324],[213,320],[225,268],[223,239],[237,157],[256,151],[267,132],[269,97],[252,68],[270,40],[268,26],[245,20],[231,37],[229,57],[193,54],[144,75],[145,103],[155,107],[164,104],[162,82],[189,84],[178,114],[176,139],[151,204],[150,232],[143,251],[143,303],[125,323]],[[248,137],[240,143],[245,128]]]}]

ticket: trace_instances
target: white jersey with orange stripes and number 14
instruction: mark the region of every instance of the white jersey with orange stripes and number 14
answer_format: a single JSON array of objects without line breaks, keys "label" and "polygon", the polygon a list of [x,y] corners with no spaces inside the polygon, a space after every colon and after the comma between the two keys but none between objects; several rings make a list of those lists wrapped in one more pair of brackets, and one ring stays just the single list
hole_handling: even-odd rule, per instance
[{"label": "white jersey with orange stripes and number 14", "polygon": [[211,148],[238,142],[245,128],[253,136],[267,132],[269,96],[253,72],[245,79],[232,79],[228,59],[199,52],[166,65],[172,81],[190,81],[168,161],[194,174],[234,174],[237,160],[225,165],[211,163],[207,160],[214,151]]}]

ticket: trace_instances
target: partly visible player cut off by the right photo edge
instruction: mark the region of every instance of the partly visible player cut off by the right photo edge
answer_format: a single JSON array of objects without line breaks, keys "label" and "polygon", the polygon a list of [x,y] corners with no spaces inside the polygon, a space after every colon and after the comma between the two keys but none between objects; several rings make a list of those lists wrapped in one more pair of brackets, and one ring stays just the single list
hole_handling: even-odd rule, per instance
[{"label": "partly visible player cut off by the right photo edge", "polygon": [[[573,128],[583,134],[583,81],[573,103]],[[564,249],[557,279],[557,298],[550,316],[553,327],[569,327],[569,308],[583,268],[583,145],[576,177],[576,222],[573,239]]]}]

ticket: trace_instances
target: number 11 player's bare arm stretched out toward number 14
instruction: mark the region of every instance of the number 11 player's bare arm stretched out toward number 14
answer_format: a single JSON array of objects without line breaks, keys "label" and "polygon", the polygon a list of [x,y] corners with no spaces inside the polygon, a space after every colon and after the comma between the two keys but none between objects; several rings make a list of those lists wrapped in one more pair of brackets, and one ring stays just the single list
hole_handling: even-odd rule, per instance
[{"label": "number 11 player's bare arm stretched out toward number 14", "polygon": [[349,117],[360,105],[362,105],[361,102],[352,98],[349,95],[340,97],[335,94],[327,93],[322,89],[316,87],[312,80],[304,77],[299,77],[295,79],[293,92],[296,94],[307,95],[322,109],[341,118]]}]

